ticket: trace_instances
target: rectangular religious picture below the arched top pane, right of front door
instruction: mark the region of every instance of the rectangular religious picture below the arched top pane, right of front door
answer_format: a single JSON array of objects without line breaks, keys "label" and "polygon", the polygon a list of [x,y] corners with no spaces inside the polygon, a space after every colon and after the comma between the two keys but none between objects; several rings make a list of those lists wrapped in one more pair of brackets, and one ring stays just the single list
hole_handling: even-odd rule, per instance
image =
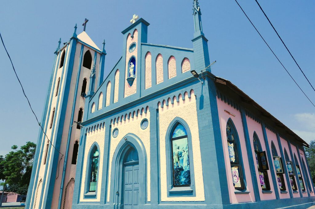
[{"label": "rectangular religious picture below the arched top pane, right of front door", "polygon": [[174,186],[190,186],[190,166],[187,137],[172,140]]}]

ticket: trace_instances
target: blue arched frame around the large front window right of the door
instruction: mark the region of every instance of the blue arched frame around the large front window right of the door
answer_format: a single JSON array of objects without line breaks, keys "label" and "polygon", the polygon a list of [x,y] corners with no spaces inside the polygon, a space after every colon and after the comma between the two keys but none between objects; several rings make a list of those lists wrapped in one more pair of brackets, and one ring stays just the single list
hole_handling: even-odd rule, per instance
[{"label": "blue arched frame around the large front window right of the door", "polygon": [[[178,124],[182,124],[187,132],[187,142],[188,142],[188,153],[189,153],[189,167],[190,167],[190,186],[175,187],[173,181],[173,153],[172,153],[172,135]],[[192,134],[189,129],[188,124],[180,117],[176,117],[169,125],[167,129],[167,134],[165,138],[165,148],[166,148],[166,172],[167,172],[167,190],[168,197],[174,196],[194,196],[196,195],[195,186],[195,172],[193,163],[193,149],[192,149]]]}]

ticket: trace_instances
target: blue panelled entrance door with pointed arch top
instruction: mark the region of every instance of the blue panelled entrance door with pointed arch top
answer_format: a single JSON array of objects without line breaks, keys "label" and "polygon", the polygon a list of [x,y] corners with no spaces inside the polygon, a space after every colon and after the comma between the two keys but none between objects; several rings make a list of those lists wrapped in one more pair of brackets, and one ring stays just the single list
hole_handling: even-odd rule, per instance
[{"label": "blue panelled entrance door with pointed arch top", "polygon": [[139,159],[135,149],[129,152],[124,163],[124,209],[138,208],[139,204]]}]

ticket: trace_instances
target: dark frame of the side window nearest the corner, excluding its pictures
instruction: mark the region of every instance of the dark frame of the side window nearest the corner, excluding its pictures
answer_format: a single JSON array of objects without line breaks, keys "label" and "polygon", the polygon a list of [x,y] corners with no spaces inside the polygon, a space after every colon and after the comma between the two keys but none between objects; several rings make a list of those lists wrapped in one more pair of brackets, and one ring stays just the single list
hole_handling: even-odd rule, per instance
[{"label": "dark frame of the side window nearest the corner, excluding its pictures", "polygon": [[[231,131],[228,131],[228,127],[231,129]],[[229,137],[229,132],[231,132],[231,136],[233,136],[234,140],[232,140],[232,137]],[[232,135],[233,132],[235,136]],[[232,174],[232,182],[233,182],[234,188],[237,190],[244,190],[246,188],[246,185],[245,185],[245,178],[244,178],[245,176],[243,176],[243,173],[244,173],[243,160],[239,156],[239,153],[241,153],[240,142],[239,142],[238,132],[231,118],[229,118],[229,120],[226,123],[226,140],[228,144],[227,149],[228,149],[229,160],[230,160],[230,165],[231,165],[231,174],[232,174],[232,170],[236,171],[236,168],[238,168],[238,178],[240,180],[240,186],[235,186],[234,177]],[[230,151],[229,151],[229,149],[231,148],[229,147],[233,147],[234,159],[235,159],[234,162],[232,162],[231,160]]]}]

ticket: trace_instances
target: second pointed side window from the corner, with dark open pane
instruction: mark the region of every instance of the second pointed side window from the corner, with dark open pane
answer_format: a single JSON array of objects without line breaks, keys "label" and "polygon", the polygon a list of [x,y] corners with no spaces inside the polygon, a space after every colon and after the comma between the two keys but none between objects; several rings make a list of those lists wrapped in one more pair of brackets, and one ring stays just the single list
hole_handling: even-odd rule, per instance
[{"label": "second pointed side window from the corner, with dark open pane", "polygon": [[262,151],[261,149],[261,144],[256,132],[254,132],[253,143],[261,189],[270,190],[269,177],[267,172],[267,170],[269,170],[267,155],[266,151]]}]

